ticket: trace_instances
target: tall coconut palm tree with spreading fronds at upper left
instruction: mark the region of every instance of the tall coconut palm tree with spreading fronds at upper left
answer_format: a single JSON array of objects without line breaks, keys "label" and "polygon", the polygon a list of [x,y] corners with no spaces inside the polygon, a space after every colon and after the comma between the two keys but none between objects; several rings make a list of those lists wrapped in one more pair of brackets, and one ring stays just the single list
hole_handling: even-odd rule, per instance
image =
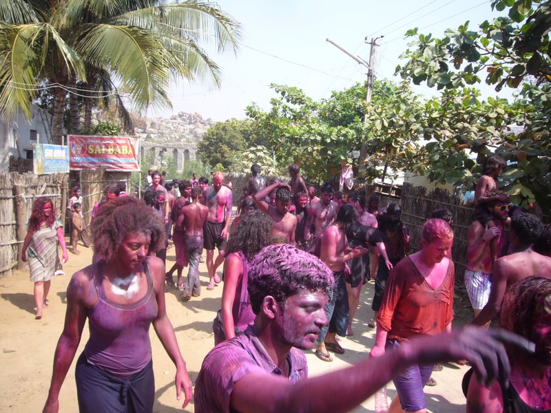
[{"label": "tall coconut palm tree with spreading fronds at upper left", "polygon": [[10,120],[21,108],[30,118],[37,90],[51,87],[59,143],[67,92],[82,93],[77,83],[97,85],[101,72],[136,109],[167,107],[172,78],[219,84],[220,68],[201,43],[236,52],[239,40],[240,25],[214,3],[0,1],[0,112]]}]

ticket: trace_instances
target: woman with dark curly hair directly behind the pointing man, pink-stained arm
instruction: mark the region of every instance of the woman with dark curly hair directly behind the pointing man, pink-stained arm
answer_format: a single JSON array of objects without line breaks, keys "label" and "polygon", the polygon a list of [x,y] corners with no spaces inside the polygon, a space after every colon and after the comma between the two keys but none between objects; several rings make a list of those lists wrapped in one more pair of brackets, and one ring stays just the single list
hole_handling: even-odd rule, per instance
[{"label": "woman with dark curly hair directly behind the pointing man, pink-stained arm", "polygon": [[224,262],[222,309],[213,324],[215,346],[245,331],[255,319],[247,290],[247,273],[255,255],[271,244],[271,226],[272,220],[268,215],[252,211],[243,215],[231,234]]}]

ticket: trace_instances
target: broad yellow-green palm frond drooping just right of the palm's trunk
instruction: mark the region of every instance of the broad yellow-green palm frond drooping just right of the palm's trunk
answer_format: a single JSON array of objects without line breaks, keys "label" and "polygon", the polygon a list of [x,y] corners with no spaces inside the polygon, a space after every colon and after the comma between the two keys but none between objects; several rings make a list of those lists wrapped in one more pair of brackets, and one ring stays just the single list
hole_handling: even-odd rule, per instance
[{"label": "broad yellow-green palm frond drooping just right of the palm's trunk", "polygon": [[137,107],[167,104],[171,57],[158,39],[139,28],[107,24],[84,25],[79,34],[77,52],[118,76]]}]

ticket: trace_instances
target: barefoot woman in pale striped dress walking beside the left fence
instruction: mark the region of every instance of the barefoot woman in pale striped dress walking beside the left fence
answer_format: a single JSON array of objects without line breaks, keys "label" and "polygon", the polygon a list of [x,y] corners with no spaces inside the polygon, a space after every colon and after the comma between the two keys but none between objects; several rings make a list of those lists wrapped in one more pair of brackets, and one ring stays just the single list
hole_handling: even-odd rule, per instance
[{"label": "barefoot woman in pale striped dress walking beside the left fence", "polygon": [[27,235],[23,241],[21,260],[29,261],[30,280],[34,282],[34,302],[37,304],[36,319],[42,318],[42,310],[48,306],[50,280],[56,272],[57,243],[63,250],[63,262],[67,262],[67,247],[63,224],[56,217],[54,203],[50,198],[38,198],[32,204],[32,213]]}]

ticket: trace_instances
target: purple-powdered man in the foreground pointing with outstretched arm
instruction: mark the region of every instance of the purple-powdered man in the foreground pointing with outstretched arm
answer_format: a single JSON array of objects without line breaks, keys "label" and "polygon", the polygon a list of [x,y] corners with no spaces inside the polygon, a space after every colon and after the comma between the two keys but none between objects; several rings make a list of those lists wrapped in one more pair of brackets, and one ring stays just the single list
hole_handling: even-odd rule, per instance
[{"label": "purple-powdered man in the foreground pointing with outstretched arm", "polygon": [[499,341],[529,346],[507,332],[468,327],[418,337],[380,357],[307,379],[300,350],[311,350],[327,324],[324,306],[333,274],[317,257],[278,244],[258,253],[248,275],[256,319],[245,334],[220,343],[205,357],[195,382],[196,413],[349,412],[415,363],[465,358],[481,381],[498,375],[503,381],[508,363]]}]

